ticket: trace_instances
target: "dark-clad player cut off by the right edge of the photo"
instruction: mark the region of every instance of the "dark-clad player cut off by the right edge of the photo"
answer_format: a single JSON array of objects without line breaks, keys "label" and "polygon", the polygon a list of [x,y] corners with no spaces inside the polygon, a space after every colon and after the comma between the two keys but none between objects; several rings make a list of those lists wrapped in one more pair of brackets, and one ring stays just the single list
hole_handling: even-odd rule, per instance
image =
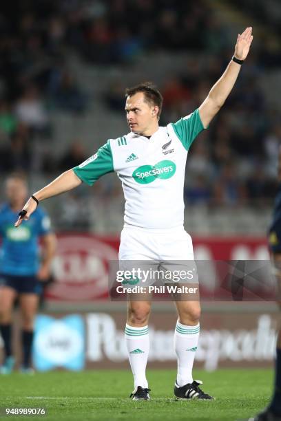
[{"label": "dark-clad player cut off by the right edge of the photo", "polygon": [[[281,149],[278,162],[278,192],[275,198],[273,219],[269,228],[269,250],[271,254],[272,266],[278,283],[278,305],[281,308]],[[275,385],[273,397],[269,407],[262,413],[256,415],[256,418],[250,418],[254,421],[280,421],[281,420],[281,332],[278,332],[276,345],[275,361]]]}]

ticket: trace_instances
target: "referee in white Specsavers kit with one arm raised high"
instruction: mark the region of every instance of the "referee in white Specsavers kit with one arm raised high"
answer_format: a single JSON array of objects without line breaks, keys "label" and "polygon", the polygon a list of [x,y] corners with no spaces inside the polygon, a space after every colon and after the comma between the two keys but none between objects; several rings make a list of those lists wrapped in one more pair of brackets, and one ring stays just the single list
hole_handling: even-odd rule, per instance
[{"label": "referee in white Specsavers kit with one arm raised high", "polygon": [[[125,196],[124,227],[118,255],[120,265],[148,261],[149,265],[165,264],[169,267],[175,261],[183,262],[185,266],[185,262],[194,261],[192,240],[183,225],[187,153],[198,134],[209,127],[224,105],[252,41],[251,27],[238,34],[227,69],[211,87],[200,107],[165,127],[159,126],[163,98],[158,89],[149,83],[127,88],[125,112],[129,133],[109,139],[85,162],[65,171],[34,193],[34,197],[23,206],[15,226],[25,226],[23,220],[32,217],[38,201],[69,191],[82,182],[92,186],[102,175],[116,172]],[[134,377],[133,400],[150,399],[146,378],[150,307],[149,300],[128,303],[125,342]],[[212,400],[212,396],[200,388],[202,382],[192,376],[200,335],[200,303],[196,299],[176,301],[176,309],[174,348],[178,370],[174,395],[185,400]]]}]

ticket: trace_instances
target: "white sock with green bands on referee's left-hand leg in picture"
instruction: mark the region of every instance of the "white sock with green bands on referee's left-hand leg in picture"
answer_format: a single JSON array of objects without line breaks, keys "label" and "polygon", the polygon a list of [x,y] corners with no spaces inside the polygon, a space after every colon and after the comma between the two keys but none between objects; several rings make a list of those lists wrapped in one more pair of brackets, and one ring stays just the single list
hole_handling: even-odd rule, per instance
[{"label": "white sock with green bands on referee's left-hand leg in picture", "polygon": [[126,324],[125,341],[134,376],[134,387],[148,387],[145,376],[149,353],[148,326],[134,327]]}]

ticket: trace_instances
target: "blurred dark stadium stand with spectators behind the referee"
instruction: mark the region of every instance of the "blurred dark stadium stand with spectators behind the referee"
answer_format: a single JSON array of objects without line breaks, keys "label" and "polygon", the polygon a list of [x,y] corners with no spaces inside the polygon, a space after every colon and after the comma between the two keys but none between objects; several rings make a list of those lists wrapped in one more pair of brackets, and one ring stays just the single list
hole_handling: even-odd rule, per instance
[{"label": "blurred dark stadium stand with spectators behind the referee", "polygon": [[[200,8],[201,2],[178,1],[175,8],[162,0],[160,13],[148,0],[18,0],[12,15],[3,7],[2,178],[21,169],[39,188],[107,138],[126,133],[123,91],[140,80],[153,80],[163,92],[163,125],[198,107],[231,58],[233,28],[247,17],[241,6],[234,19],[238,2],[227,2],[230,31],[222,12],[207,1]],[[267,19],[258,28],[262,34]],[[280,43],[278,25],[274,31]],[[185,202],[193,233],[244,233],[247,227],[249,234],[263,234],[267,228],[281,140],[274,63],[280,64],[274,47],[256,42],[227,104],[191,147]],[[105,233],[122,225],[123,197],[114,175],[46,205],[57,229],[75,225]]]}]

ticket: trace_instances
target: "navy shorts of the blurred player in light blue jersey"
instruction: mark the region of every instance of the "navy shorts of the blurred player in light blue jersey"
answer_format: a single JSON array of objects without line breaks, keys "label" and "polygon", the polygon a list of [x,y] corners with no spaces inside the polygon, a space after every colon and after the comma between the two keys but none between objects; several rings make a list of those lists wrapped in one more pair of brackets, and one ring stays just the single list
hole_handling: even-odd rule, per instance
[{"label": "navy shorts of the blurred player in light blue jersey", "polygon": [[19,294],[40,295],[43,291],[42,283],[33,275],[23,277],[10,274],[0,274],[0,286],[1,285],[13,288],[13,290],[16,290]]}]

